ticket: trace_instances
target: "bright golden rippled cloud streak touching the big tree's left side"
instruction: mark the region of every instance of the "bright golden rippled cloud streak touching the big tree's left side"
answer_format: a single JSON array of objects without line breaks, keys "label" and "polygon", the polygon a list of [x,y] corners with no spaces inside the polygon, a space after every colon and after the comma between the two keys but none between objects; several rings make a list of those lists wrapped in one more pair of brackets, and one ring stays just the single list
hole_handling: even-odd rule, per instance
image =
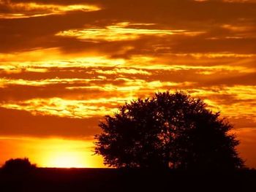
[{"label": "bright golden rippled cloud streak touching the big tree's left side", "polygon": [[[51,99],[31,99],[22,102],[11,101],[8,104],[1,104],[1,107],[14,110],[25,110],[31,112],[33,115],[56,115],[59,117],[68,118],[91,118],[107,115],[108,113],[113,113],[113,106],[110,108],[108,105],[111,101],[115,101],[117,98],[113,99],[97,99],[95,100],[67,100],[60,98]],[[119,99],[121,100],[121,99]],[[107,102],[107,104],[102,104],[102,102]],[[107,105],[107,106],[106,106]]]}]

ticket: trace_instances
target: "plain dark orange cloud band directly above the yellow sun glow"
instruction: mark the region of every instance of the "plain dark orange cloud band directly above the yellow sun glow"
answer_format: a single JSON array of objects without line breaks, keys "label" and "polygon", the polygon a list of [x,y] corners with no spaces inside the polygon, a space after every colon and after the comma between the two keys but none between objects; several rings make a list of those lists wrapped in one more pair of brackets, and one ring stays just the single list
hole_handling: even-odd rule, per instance
[{"label": "plain dark orange cloud band directly above the yellow sun glow", "polygon": [[91,137],[99,132],[98,118],[59,118],[0,107],[0,135],[31,137]]}]

